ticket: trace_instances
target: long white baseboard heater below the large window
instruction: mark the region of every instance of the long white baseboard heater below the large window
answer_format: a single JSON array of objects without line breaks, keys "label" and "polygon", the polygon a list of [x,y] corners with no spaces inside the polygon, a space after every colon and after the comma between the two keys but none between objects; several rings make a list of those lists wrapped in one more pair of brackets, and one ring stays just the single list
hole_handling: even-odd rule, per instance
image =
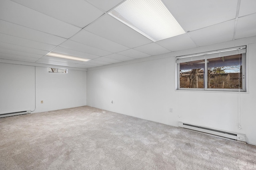
[{"label": "long white baseboard heater below the large window", "polygon": [[208,134],[211,134],[211,135],[217,135],[217,136],[220,136],[220,137],[226,137],[226,138],[229,138],[229,139],[234,139],[234,140],[237,140],[237,141],[246,142],[246,137],[243,134],[220,131],[220,130],[216,130],[216,129],[210,129],[208,127],[191,125],[191,124],[183,123],[183,122],[178,122],[178,126],[183,127],[185,129],[190,129],[190,130],[194,130],[194,131],[208,133]]}]

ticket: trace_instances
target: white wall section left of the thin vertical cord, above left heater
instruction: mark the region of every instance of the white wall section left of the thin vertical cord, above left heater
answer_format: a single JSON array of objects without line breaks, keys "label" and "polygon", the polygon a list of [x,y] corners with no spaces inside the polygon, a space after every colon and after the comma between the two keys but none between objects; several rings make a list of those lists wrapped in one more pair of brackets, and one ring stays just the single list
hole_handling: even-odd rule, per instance
[{"label": "white wall section left of the thin vertical cord, above left heater", "polygon": [[35,106],[35,67],[0,63],[0,114]]}]

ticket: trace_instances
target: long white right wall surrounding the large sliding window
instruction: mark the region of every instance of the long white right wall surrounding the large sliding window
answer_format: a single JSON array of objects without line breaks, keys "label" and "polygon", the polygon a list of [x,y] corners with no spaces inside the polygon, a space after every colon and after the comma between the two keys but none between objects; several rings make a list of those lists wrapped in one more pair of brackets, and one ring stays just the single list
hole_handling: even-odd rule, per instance
[{"label": "long white right wall surrounding the large sliding window", "polygon": [[[174,56],[247,45],[248,92],[175,90]],[[167,55],[112,64],[87,71],[87,105],[168,125],[178,121],[246,134],[256,145],[256,37],[199,47]],[[238,97],[241,125],[238,129]],[[114,103],[111,104],[110,100]],[[169,108],[173,108],[173,113]]]}]

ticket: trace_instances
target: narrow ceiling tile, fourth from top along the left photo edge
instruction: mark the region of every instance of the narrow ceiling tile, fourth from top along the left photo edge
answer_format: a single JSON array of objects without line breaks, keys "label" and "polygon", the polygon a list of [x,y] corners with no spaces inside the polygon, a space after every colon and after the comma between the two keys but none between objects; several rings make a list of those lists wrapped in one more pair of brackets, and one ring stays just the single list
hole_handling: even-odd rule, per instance
[{"label": "narrow ceiling tile, fourth from top along the left photo edge", "polygon": [[2,43],[2,42],[0,42],[0,48],[14,50],[14,51],[21,51],[25,53],[38,54],[38,55],[46,55],[48,53],[48,51],[44,51],[44,50],[32,49],[29,47],[22,47],[20,45],[13,45],[13,44]]}]

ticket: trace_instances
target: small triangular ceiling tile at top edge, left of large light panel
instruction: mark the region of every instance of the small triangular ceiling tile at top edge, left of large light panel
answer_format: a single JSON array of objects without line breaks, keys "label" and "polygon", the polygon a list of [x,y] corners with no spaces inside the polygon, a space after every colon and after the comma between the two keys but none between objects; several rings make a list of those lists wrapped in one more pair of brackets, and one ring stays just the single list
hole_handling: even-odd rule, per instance
[{"label": "small triangular ceiling tile at top edge, left of large light panel", "polygon": [[114,8],[117,4],[119,4],[122,1],[124,0],[88,0],[88,2],[91,2],[95,6],[106,12]]}]

